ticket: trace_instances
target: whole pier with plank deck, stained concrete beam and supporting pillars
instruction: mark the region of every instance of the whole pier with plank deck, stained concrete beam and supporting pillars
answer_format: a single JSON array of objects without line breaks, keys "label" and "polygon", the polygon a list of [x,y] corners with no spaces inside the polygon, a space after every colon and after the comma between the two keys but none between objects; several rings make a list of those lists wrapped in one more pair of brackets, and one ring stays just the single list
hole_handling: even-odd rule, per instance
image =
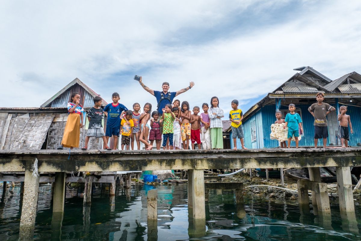
[{"label": "whole pier with plank deck, stained concrete beam and supporting pillars", "polygon": [[[330,217],[330,204],[319,167],[336,167],[340,211],[355,216],[350,167],[361,166],[361,148],[250,150],[0,150],[0,172],[25,172],[20,240],[32,239],[40,172],[55,172],[53,212],[64,211],[65,172],[115,172],[188,169],[188,207],[193,218],[205,219],[203,169],[308,167],[310,181],[299,182],[299,204],[309,207],[308,191],[318,214]],[[327,200],[326,200],[327,199]]]}]

